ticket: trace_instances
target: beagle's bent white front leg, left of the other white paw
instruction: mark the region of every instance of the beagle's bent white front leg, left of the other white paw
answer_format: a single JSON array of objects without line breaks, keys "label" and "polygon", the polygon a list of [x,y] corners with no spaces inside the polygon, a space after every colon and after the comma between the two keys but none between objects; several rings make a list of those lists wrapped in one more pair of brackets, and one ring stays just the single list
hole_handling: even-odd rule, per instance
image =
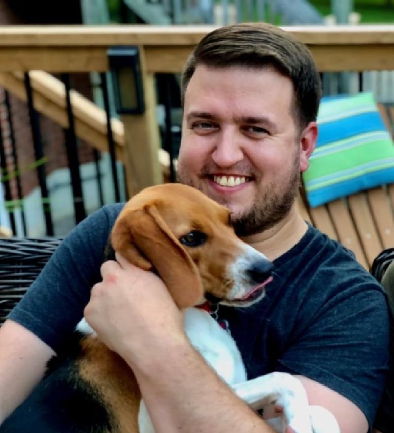
[{"label": "beagle's bent white front leg, left of the other white paw", "polygon": [[281,406],[284,425],[279,433],[287,425],[295,433],[313,433],[307,394],[302,383],[291,374],[270,373],[232,388],[253,410],[272,404]]}]

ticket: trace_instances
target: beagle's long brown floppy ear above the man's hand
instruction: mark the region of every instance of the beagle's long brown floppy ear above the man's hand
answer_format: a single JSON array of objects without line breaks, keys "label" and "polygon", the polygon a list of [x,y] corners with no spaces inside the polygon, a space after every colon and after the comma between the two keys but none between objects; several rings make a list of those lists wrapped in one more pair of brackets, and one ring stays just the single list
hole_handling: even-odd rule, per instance
[{"label": "beagle's long brown floppy ear above the man's hand", "polygon": [[111,233],[113,248],[142,269],[154,267],[179,308],[203,295],[199,271],[154,204],[125,210]]}]

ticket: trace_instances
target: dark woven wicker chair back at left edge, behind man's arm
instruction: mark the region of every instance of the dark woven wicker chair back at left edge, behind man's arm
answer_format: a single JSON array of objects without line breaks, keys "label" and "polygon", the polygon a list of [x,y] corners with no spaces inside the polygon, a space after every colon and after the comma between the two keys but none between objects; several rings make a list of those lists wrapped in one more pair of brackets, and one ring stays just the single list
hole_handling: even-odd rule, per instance
[{"label": "dark woven wicker chair back at left edge, behind man's arm", "polygon": [[0,239],[0,324],[60,243],[57,238]]}]

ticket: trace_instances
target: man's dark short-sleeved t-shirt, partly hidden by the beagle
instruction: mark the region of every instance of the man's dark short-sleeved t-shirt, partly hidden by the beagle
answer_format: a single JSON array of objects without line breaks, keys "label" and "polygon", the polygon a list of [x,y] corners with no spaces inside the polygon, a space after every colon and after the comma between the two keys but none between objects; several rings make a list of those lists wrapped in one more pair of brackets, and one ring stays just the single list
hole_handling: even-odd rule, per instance
[{"label": "man's dark short-sleeved t-shirt, partly hidden by the beagle", "polygon": [[[79,224],[9,315],[55,351],[101,279],[109,232],[122,206],[105,206]],[[371,426],[388,361],[382,288],[348,250],[312,226],[274,265],[261,302],[219,309],[249,377],[272,371],[309,377],[353,401]]]}]

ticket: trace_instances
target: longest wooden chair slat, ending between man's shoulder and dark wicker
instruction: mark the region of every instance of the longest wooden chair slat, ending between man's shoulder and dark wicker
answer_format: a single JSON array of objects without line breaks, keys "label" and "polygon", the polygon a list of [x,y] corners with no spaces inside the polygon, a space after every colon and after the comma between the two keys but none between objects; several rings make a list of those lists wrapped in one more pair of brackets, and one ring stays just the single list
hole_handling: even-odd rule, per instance
[{"label": "longest wooden chair slat, ending between man's shoulder and dark wicker", "polygon": [[358,262],[369,269],[363,248],[356,233],[355,226],[349,215],[346,203],[343,200],[334,200],[327,204],[331,220],[335,225],[338,240],[345,247],[353,251]]}]

